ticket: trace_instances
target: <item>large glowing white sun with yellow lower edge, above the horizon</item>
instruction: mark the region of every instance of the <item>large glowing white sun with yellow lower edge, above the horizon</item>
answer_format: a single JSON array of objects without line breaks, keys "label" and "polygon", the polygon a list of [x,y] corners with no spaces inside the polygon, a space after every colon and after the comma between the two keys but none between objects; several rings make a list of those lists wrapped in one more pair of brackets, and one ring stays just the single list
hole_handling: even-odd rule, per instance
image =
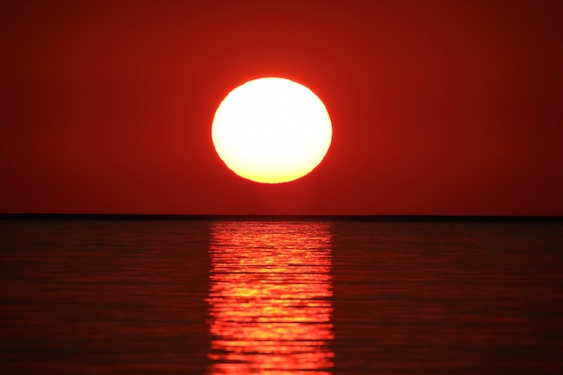
[{"label": "large glowing white sun with yellow lower edge, above the horizon", "polygon": [[211,125],[217,154],[256,183],[289,183],[320,164],[332,141],[325,104],[308,87],[264,77],[231,91]]}]

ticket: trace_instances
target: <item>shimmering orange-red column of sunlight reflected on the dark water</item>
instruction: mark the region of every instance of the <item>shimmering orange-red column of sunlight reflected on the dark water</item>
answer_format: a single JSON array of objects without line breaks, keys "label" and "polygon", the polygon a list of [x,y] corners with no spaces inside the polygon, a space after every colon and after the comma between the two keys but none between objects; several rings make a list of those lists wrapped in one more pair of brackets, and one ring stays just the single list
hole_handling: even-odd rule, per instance
[{"label": "shimmering orange-red column of sunlight reflected on the dark water", "polygon": [[327,223],[211,229],[210,374],[328,374],[334,366]]}]

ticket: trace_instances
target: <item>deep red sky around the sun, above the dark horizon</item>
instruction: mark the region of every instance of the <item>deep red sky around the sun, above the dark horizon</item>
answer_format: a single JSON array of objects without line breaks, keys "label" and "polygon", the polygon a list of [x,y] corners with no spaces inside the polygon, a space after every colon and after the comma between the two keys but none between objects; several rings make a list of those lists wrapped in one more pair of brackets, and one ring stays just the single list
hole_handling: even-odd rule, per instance
[{"label": "deep red sky around the sun, above the dark horizon", "polygon": [[[4,1],[0,212],[563,215],[559,1]],[[235,86],[308,85],[294,183],[210,139]]]}]

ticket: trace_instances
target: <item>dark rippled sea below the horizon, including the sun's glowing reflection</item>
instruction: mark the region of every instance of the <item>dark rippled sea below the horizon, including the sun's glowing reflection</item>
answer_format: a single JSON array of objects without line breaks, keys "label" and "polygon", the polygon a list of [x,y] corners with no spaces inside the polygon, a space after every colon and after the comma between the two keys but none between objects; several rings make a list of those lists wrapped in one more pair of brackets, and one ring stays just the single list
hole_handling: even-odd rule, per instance
[{"label": "dark rippled sea below the horizon, including the sun's glowing reflection", "polygon": [[0,373],[562,374],[563,220],[4,216]]}]

